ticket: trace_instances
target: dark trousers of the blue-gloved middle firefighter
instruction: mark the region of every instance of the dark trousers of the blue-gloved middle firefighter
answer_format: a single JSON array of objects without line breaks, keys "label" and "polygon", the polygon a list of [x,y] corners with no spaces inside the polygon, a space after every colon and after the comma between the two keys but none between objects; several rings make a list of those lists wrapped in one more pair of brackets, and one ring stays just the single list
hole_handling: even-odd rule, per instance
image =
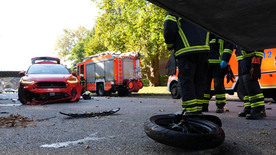
[{"label": "dark trousers of the blue-gloved middle firefighter", "polygon": [[209,69],[205,78],[203,108],[208,109],[211,83],[214,79],[214,93],[216,95],[216,106],[223,108],[226,104],[224,76],[227,73],[227,68],[221,69],[220,65],[209,65]]}]

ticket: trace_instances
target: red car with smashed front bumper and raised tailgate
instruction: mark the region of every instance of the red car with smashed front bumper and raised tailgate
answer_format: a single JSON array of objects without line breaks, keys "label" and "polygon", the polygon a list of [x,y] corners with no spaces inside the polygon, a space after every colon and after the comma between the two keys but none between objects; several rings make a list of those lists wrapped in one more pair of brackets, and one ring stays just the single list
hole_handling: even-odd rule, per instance
[{"label": "red car with smashed front bumper and raised tailgate", "polygon": [[22,104],[44,104],[61,100],[80,99],[83,86],[78,84],[76,72],[69,71],[54,57],[35,57],[20,80],[18,98]]}]

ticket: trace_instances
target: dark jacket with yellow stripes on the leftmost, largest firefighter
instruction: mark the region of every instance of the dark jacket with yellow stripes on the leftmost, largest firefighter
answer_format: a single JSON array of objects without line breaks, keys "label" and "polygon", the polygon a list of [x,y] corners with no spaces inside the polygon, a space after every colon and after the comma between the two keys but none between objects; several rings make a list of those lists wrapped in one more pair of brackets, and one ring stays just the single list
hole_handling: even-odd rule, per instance
[{"label": "dark jacket with yellow stripes on the leftmost, largest firefighter", "polygon": [[164,39],[175,57],[192,53],[209,53],[209,32],[167,12],[164,21]]}]

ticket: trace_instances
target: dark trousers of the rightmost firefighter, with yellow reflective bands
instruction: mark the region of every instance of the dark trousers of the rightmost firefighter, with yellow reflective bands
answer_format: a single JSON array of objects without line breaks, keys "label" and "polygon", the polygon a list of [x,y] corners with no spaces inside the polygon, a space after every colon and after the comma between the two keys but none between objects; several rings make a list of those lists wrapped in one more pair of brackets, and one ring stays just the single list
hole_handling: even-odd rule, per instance
[{"label": "dark trousers of the rightmost firefighter, with yellow reflective bands", "polygon": [[250,79],[252,57],[238,61],[239,86],[243,94],[245,112],[265,111],[264,95],[259,82]]}]

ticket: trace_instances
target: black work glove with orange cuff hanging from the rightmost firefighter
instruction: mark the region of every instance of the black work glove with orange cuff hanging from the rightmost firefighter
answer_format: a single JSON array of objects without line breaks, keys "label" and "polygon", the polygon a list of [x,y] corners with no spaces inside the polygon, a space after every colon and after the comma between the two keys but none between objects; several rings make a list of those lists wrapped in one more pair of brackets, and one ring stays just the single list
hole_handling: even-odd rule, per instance
[{"label": "black work glove with orange cuff hanging from the rightmost firefighter", "polygon": [[261,79],[261,57],[253,57],[251,62],[251,71],[250,71],[250,79],[252,81],[257,81]]}]

